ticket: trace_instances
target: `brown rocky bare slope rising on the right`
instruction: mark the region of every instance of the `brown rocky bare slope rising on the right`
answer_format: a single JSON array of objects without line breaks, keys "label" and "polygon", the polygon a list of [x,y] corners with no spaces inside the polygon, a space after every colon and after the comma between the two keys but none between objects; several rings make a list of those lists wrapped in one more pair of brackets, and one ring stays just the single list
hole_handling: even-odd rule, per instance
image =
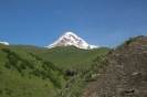
[{"label": "brown rocky bare slope rising on the right", "polygon": [[126,41],[112,53],[109,62],[99,71],[102,77],[87,85],[83,97],[147,96],[147,37]]}]

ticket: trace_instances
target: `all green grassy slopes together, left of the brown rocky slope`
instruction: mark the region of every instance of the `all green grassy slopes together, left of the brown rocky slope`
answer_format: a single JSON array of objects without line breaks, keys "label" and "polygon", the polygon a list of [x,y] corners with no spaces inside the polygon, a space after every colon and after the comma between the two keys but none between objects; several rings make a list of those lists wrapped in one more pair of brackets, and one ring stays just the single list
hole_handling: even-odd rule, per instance
[{"label": "all green grassy slopes together, left of the brown rocky slope", "polygon": [[17,48],[0,44],[0,96],[78,96],[87,83],[99,76],[93,75],[108,64],[108,51],[104,47],[86,51],[74,46],[49,50],[29,45]]}]

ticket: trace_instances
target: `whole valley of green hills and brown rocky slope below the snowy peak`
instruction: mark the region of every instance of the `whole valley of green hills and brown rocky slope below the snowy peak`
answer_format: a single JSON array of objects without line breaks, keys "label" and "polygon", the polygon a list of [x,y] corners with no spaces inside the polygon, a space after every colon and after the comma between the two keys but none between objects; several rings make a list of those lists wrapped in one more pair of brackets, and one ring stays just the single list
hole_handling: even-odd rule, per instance
[{"label": "whole valley of green hills and brown rocky slope below the snowy peak", "polygon": [[0,96],[145,97],[146,43],[139,35],[116,48],[0,44]]}]

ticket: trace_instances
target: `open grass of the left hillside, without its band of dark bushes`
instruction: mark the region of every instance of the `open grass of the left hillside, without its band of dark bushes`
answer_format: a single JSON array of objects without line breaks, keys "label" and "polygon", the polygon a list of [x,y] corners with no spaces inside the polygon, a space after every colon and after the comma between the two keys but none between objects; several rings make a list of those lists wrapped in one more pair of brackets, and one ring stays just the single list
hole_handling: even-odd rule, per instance
[{"label": "open grass of the left hillside, without its band of dark bushes", "polygon": [[[19,73],[12,65],[10,68],[7,68],[4,64],[9,60],[7,58],[7,53],[1,51],[3,47],[15,52],[20,57],[32,62],[35,68],[43,69],[41,67],[42,61],[36,61],[35,57],[32,57],[29,53],[23,51],[0,44],[1,97],[52,97],[52,95],[55,94],[56,88],[54,88],[51,80],[49,78],[42,79],[42,76],[29,74],[29,72],[32,72],[29,67],[23,69],[22,73]],[[65,80],[62,76],[57,76],[57,72],[52,71],[52,74],[59,78],[62,85],[64,85]]]}]

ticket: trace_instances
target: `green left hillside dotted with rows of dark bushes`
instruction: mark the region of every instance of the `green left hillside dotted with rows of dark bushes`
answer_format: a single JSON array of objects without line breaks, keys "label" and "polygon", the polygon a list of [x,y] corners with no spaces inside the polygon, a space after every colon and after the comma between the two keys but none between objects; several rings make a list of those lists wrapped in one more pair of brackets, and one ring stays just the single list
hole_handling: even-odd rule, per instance
[{"label": "green left hillside dotted with rows of dark bushes", "polygon": [[64,78],[52,63],[0,44],[0,97],[53,97]]}]

